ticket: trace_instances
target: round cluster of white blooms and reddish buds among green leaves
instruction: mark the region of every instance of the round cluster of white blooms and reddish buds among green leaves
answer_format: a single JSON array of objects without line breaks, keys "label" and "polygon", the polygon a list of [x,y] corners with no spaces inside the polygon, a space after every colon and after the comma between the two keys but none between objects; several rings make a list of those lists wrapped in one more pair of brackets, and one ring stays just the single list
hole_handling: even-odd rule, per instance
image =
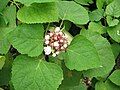
[{"label": "round cluster of white blooms and reddish buds among green leaves", "polygon": [[53,57],[57,56],[61,51],[65,51],[68,46],[67,36],[56,27],[54,31],[49,31],[45,35],[45,55],[52,54]]}]

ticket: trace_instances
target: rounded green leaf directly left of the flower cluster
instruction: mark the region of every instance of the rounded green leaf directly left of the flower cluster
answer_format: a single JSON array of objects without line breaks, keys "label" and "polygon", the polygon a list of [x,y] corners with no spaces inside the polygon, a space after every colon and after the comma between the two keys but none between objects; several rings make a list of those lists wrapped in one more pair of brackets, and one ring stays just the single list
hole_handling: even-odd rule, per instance
[{"label": "rounded green leaf directly left of the flower cluster", "polygon": [[43,51],[44,29],[41,24],[23,24],[11,32],[11,44],[22,54],[39,56]]}]

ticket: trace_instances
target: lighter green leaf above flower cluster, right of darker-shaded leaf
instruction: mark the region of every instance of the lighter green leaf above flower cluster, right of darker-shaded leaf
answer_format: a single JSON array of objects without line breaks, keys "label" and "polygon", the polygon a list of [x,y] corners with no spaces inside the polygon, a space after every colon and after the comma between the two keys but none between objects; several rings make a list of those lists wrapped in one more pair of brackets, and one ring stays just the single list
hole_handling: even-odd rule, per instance
[{"label": "lighter green leaf above flower cluster, right of darker-shaded leaf", "polygon": [[73,1],[61,1],[58,3],[59,17],[75,24],[86,24],[89,21],[87,10]]}]

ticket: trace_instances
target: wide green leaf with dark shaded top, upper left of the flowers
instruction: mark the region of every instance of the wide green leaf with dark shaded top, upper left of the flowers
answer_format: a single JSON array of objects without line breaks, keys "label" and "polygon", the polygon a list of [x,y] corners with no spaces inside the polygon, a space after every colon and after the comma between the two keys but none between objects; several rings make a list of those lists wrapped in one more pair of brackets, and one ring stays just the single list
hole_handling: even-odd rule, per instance
[{"label": "wide green leaf with dark shaded top, upper left of the flowers", "polygon": [[56,3],[35,3],[21,8],[17,17],[24,23],[46,23],[58,21]]}]

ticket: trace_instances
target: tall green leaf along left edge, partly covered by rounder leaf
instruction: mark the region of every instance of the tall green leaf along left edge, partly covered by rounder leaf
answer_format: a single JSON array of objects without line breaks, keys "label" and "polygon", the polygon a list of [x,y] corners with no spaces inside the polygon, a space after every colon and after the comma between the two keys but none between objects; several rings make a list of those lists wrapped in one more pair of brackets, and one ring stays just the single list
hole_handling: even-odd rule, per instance
[{"label": "tall green leaf along left edge, partly covered by rounder leaf", "polygon": [[0,53],[6,54],[11,45],[8,35],[16,27],[16,7],[8,6],[2,11],[2,14],[4,23],[0,27]]}]

